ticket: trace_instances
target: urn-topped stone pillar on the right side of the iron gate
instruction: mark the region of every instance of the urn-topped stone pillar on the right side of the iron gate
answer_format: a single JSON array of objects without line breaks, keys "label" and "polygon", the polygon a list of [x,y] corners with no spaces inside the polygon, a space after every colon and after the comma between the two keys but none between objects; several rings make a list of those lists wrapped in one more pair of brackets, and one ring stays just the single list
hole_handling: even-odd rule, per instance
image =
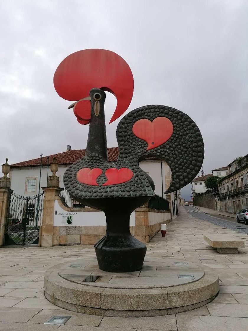
[{"label": "urn-topped stone pillar on the right side of the iron gate", "polygon": [[48,177],[47,187],[42,187],[44,190],[44,203],[43,203],[43,217],[42,217],[42,228],[41,228],[41,240],[40,245],[42,247],[50,247],[59,240],[59,236],[54,233],[54,203],[56,197],[60,194],[62,188],[59,187],[59,177],[56,176],[58,171],[58,163],[56,158],[53,159],[51,164],[52,176]]}]

